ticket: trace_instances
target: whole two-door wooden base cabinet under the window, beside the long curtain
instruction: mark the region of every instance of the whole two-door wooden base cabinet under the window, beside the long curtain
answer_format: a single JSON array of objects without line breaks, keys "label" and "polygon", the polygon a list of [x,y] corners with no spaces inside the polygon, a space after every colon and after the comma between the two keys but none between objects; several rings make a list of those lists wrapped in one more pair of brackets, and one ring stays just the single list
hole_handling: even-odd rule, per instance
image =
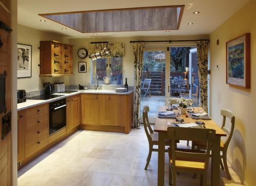
[{"label": "whole two-door wooden base cabinet under the window, beside the long curtain", "polygon": [[130,94],[81,94],[81,129],[129,134],[133,123]]}]

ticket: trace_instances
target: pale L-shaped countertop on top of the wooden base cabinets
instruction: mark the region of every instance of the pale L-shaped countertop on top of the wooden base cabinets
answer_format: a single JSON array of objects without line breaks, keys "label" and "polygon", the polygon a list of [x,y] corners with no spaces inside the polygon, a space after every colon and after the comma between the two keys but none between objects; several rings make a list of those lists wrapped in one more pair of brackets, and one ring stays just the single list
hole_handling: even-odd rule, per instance
[{"label": "pale L-shaped countertop on top of the wooden base cabinets", "polygon": [[44,103],[48,103],[48,102],[53,102],[59,99],[63,99],[69,96],[73,96],[76,94],[131,94],[133,92],[133,90],[129,90],[127,92],[116,92],[115,90],[93,90],[93,89],[88,89],[88,90],[75,90],[77,92],[73,92],[70,94],[65,94],[65,93],[54,93],[55,95],[63,95],[61,97],[56,97],[56,98],[52,98],[52,99],[47,99],[47,100],[34,100],[34,99],[27,99],[26,102],[22,102],[22,103],[17,103],[17,111],[21,111],[24,109],[28,109],[31,107],[34,107],[36,105],[40,105],[40,104],[44,104]]}]

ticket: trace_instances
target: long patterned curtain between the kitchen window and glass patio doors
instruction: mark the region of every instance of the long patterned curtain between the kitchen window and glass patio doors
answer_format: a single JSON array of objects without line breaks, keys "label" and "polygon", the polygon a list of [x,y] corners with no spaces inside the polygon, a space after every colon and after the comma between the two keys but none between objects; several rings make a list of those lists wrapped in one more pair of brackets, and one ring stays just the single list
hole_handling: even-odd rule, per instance
[{"label": "long patterned curtain between the kitchen window and glass patio doors", "polygon": [[140,88],[143,70],[144,42],[133,43],[134,54],[134,79],[135,79],[135,99],[133,109],[133,128],[140,127]]}]

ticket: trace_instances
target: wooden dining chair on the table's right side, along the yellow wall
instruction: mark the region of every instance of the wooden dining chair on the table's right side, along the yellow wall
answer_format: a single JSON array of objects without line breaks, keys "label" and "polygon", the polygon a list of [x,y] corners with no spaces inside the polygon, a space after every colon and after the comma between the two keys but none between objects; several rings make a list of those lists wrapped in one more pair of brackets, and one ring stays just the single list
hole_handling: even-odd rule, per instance
[{"label": "wooden dining chair on the table's right side, along the yellow wall", "polygon": [[[223,120],[222,120],[222,130],[224,130],[226,133],[227,133],[227,139],[226,141],[223,141],[221,140],[221,168],[224,170],[225,169],[225,172],[227,174],[227,178],[229,180],[231,180],[231,175],[229,173],[229,170],[228,170],[228,166],[227,166],[227,148],[228,148],[228,145],[231,141],[231,138],[232,138],[232,135],[233,135],[233,131],[234,131],[234,120],[235,120],[235,117],[232,113],[232,111],[229,111],[227,109],[222,109],[221,110],[221,115],[223,116]],[[230,119],[230,129],[228,129],[226,127],[226,118],[229,118]],[[192,148],[193,149],[205,149],[205,143],[203,142],[192,142]]]}]

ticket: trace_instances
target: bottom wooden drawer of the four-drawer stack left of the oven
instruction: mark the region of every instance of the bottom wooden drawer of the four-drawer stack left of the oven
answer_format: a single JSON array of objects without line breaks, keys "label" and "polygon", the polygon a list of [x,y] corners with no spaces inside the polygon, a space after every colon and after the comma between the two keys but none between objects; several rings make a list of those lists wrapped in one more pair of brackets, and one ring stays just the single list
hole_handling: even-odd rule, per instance
[{"label": "bottom wooden drawer of the four-drawer stack left of the oven", "polygon": [[27,156],[31,155],[33,152],[39,150],[44,147],[48,143],[48,134],[42,135],[39,138],[33,140],[32,142],[27,144]]}]

